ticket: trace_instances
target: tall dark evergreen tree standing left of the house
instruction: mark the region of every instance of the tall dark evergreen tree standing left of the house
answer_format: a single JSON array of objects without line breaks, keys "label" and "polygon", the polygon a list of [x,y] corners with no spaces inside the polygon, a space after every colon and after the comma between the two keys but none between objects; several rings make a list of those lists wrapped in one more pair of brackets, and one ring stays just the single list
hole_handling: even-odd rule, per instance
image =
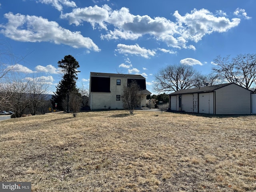
[{"label": "tall dark evergreen tree standing left of the house", "polygon": [[[77,73],[80,72],[77,68],[80,66],[73,56],[67,55],[64,56],[64,59],[58,61],[58,67],[61,69],[63,76],[56,87],[56,92],[52,96],[51,102],[53,108],[57,103],[56,109],[65,110],[66,108],[66,111],[69,112],[69,96],[71,91],[76,90]],[[62,105],[64,100],[66,100],[66,106]]]}]

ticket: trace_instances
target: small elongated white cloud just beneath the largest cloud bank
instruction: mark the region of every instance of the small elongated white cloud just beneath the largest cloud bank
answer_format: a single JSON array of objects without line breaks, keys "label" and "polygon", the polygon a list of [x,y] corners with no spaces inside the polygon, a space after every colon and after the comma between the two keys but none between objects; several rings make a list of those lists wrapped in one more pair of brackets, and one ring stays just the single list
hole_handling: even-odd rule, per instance
[{"label": "small elongated white cloud just beneath the largest cloud bank", "polygon": [[138,44],[135,44],[135,45],[118,44],[116,51],[118,51],[121,54],[134,54],[134,55],[142,56],[144,58],[150,58],[150,56],[154,56],[156,54],[155,51],[141,48]]}]

